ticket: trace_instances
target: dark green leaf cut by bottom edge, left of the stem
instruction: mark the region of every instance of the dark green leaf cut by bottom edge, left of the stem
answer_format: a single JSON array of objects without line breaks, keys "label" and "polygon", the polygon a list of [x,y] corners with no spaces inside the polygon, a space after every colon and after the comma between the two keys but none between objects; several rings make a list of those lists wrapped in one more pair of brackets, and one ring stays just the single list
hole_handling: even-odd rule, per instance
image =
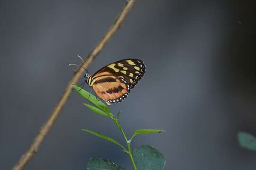
[{"label": "dark green leaf cut by bottom edge, left of the stem", "polygon": [[101,158],[91,158],[87,163],[87,170],[125,170],[118,164]]}]

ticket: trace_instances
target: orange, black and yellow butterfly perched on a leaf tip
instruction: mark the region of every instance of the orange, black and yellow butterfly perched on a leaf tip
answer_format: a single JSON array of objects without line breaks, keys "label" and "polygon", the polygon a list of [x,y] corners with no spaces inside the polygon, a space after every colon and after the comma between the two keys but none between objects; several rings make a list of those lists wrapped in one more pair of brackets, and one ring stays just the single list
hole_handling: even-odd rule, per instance
[{"label": "orange, black and yellow butterfly perched on a leaf tip", "polygon": [[142,60],[122,59],[99,69],[94,75],[86,70],[84,78],[97,96],[111,105],[122,102],[144,76],[145,71],[146,65]]}]

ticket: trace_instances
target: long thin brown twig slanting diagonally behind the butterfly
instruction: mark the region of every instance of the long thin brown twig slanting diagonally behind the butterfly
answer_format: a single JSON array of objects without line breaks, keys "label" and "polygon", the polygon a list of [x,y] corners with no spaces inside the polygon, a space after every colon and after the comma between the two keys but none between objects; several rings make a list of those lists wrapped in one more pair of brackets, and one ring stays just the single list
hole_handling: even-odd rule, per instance
[{"label": "long thin brown twig slanting diagonally behind the butterfly", "polygon": [[[128,12],[134,6],[136,0],[128,0],[126,5],[123,7],[121,12],[119,13],[118,17],[116,18],[114,24],[110,27],[110,30],[103,36],[101,41],[96,45],[96,47],[91,51],[91,53],[87,56],[87,59],[84,63],[82,63],[83,68],[87,68],[91,61],[99,54],[99,52],[103,49],[112,35],[119,29],[121,23],[124,21],[125,17],[127,16]],[[27,164],[27,162],[37,153],[38,148],[42,141],[44,140],[46,134],[49,132],[51,127],[53,126],[56,118],[58,117],[60,111],[66,104],[68,97],[70,96],[73,88],[70,84],[76,84],[80,77],[84,74],[84,69],[78,68],[73,77],[71,78],[70,82],[66,86],[64,92],[62,93],[59,101],[57,102],[52,114],[47,119],[46,123],[41,127],[39,133],[35,137],[33,143],[28,148],[27,152],[24,153],[16,165],[13,167],[12,170],[22,170],[23,167]]]}]

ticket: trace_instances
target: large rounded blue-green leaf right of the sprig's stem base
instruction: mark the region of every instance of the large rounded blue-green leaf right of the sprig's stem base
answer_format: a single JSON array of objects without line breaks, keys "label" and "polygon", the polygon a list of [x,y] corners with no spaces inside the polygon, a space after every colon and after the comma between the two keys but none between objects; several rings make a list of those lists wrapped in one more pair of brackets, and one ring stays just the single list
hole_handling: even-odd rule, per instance
[{"label": "large rounded blue-green leaf right of the sprig's stem base", "polygon": [[137,170],[163,170],[165,157],[149,145],[137,146],[133,151]]}]

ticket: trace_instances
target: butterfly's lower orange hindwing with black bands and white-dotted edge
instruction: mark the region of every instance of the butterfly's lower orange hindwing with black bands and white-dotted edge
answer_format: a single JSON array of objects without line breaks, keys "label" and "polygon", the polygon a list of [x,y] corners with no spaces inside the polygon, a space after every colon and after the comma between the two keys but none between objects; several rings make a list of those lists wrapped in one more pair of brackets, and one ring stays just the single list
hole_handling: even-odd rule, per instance
[{"label": "butterfly's lower orange hindwing with black bands and white-dotted edge", "polygon": [[101,76],[92,86],[96,94],[108,105],[124,100],[130,92],[130,86],[120,77]]}]

